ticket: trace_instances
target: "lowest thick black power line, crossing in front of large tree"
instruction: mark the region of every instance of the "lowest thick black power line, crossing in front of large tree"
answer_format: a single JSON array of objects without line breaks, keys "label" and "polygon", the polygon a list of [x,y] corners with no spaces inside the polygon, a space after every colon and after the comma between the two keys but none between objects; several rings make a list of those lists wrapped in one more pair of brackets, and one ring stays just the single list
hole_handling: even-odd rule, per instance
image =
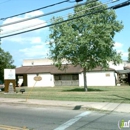
[{"label": "lowest thick black power line, crossing in front of large tree", "polygon": [[[130,4],[130,1],[126,1],[126,2],[128,2],[127,5]],[[121,4],[123,4],[123,3],[121,3]],[[118,4],[118,5],[120,5],[120,4]],[[118,5],[116,5],[116,6],[118,6]],[[125,6],[127,6],[127,5],[125,5]],[[60,22],[56,22],[56,23],[53,23],[53,24],[45,25],[43,27],[38,27],[38,28],[30,29],[30,30],[27,30],[27,31],[24,31],[24,32],[19,32],[19,33],[15,33],[15,34],[9,34],[9,35],[6,35],[6,36],[2,36],[2,37],[0,37],[0,39],[10,37],[10,36],[14,36],[14,35],[18,35],[18,34],[22,34],[22,33],[27,33],[27,32],[30,32],[30,31],[35,31],[35,30],[38,30],[38,29],[41,29],[41,28],[46,28],[46,27],[54,26],[54,25],[61,24],[61,23],[65,23],[65,22],[68,22],[68,21],[71,21],[71,20],[74,20],[74,19],[79,19],[79,18],[85,17],[87,15],[102,13],[102,11],[104,11],[104,10],[114,9],[114,8],[115,8],[115,6],[111,6],[111,7],[108,7],[106,9],[101,9],[99,11],[95,11],[95,12],[92,12],[92,13],[87,13],[87,14],[84,14],[84,15],[80,15],[80,16],[77,16],[77,17],[74,17],[74,18],[64,20],[64,21],[60,21]]]}]

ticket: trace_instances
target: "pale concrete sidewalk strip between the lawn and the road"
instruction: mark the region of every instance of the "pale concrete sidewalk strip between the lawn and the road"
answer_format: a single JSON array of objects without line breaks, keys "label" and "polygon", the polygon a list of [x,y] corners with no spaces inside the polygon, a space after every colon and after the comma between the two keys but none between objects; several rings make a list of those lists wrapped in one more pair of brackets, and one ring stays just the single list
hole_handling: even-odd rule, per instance
[{"label": "pale concrete sidewalk strip between the lawn and the road", "polygon": [[24,104],[24,105],[40,105],[50,107],[67,107],[73,110],[80,109],[96,109],[115,112],[130,113],[130,104],[125,103],[109,103],[109,102],[74,102],[74,101],[53,101],[53,100],[36,100],[36,99],[13,99],[0,98],[0,103],[6,104]]}]

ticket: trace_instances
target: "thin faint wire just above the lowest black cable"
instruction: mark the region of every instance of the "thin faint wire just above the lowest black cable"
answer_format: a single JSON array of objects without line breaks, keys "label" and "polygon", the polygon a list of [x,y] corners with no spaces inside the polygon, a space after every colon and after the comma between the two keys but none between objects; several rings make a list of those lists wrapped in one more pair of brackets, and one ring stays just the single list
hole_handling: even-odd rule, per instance
[{"label": "thin faint wire just above the lowest black cable", "polygon": [[[76,12],[76,14],[79,14],[80,12],[84,12],[84,11],[86,11],[86,10],[91,10],[91,9],[97,8],[97,7],[101,6],[101,5],[109,4],[109,3],[112,3],[112,2],[113,2],[113,1],[109,0],[109,1],[106,2],[106,3],[101,3],[101,4],[96,5],[96,6],[94,6],[94,7],[87,8],[87,9],[85,9],[85,10],[78,11],[78,12]],[[116,2],[116,1],[114,1],[114,2]],[[91,2],[88,2],[87,4],[89,4],[89,3],[91,3]],[[68,15],[63,16],[62,18],[65,18],[65,17],[67,17],[67,16],[68,16]],[[49,20],[49,21],[46,21],[46,22],[50,22],[50,20]],[[21,31],[21,30],[28,29],[28,28],[32,28],[32,27],[34,28],[34,27],[40,26],[40,25],[42,25],[42,24],[44,24],[44,23],[42,22],[42,23],[39,23],[39,24],[37,24],[37,25],[33,25],[33,26],[29,26],[29,27],[22,28],[22,29],[18,29],[18,30],[15,30],[14,32]],[[10,32],[12,33],[12,31],[10,31]],[[5,34],[8,34],[8,33],[10,33],[10,32],[6,32]],[[2,35],[5,35],[5,34],[2,34]]]}]

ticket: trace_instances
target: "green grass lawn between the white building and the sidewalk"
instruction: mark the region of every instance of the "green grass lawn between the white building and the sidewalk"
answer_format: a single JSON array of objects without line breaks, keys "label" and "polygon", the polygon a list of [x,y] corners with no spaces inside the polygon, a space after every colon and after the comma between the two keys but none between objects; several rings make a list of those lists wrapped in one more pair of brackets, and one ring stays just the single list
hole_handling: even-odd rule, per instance
[{"label": "green grass lawn between the white building and the sidewalk", "polygon": [[[88,87],[88,92],[85,92],[83,87],[24,88],[26,90],[24,94],[21,94],[20,92],[17,94],[4,94],[4,92],[0,92],[0,97],[61,101],[130,103],[130,86]],[[19,91],[21,88],[16,89]]]}]

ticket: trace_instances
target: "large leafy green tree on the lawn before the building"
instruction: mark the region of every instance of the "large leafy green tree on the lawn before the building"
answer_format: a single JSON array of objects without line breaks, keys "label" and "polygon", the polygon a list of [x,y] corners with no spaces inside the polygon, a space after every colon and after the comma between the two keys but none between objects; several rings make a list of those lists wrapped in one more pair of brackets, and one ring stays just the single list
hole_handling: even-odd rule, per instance
[{"label": "large leafy green tree on the lawn before the building", "polygon": [[110,61],[114,64],[121,62],[121,55],[113,49],[113,38],[123,28],[122,22],[116,20],[113,10],[106,10],[107,6],[100,4],[91,2],[77,6],[74,14],[69,14],[67,19],[53,17],[53,26],[50,27],[50,39],[54,41],[50,42],[50,58],[58,67],[64,59],[73,65],[80,65],[84,71],[85,91],[87,71],[97,66],[107,68]]}]

